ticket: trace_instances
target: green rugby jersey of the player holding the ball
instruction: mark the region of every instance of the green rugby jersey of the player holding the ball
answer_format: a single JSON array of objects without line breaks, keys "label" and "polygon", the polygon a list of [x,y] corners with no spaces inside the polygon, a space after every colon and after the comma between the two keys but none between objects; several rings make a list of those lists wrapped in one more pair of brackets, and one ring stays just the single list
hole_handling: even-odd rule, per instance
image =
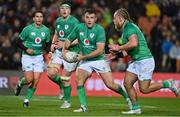
[{"label": "green rugby jersey of the player holding the ball", "polygon": [[[78,38],[79,48],[82,55],[87,55],[96,50],[97,43],[105,43],[106,36],[105,31],[99,24],[94,24],[92,28],[88,28],[85,23],[79,24],[72,33],[68,36],[68,39],[72,42],[75,38]],[[89,58],[84,61],[103,60],[104,52],[97,57]]]}]

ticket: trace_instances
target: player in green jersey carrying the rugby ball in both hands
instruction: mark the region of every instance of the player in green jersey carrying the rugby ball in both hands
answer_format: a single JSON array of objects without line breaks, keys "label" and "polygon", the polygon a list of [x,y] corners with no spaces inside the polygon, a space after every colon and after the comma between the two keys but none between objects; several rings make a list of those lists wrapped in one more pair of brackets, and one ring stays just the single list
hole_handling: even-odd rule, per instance
[{"label": "player in green jersey carrying the rugby ball in both hands", "polygon": [[111,69],[105,61],[104,46],[106,42],[105,31],[102,26],[96,24],[97,16],[93,9],[88,9],[84,14],[85,23],[79,24],[68,36],[63,48],[63,56],[65,57],[66,50],[75,38],[78,39],[80,51],[78,60],[81,61],[76,70],[77,92],[80,101],[80,108],[74,112],[86,112],[87,101],[84,89],[86,80],[91,76],[93,71],[96,71],[103,79],[105,85],[111,90],[121,94],[129,106],[130,99],[122,87],[112,79]]}]

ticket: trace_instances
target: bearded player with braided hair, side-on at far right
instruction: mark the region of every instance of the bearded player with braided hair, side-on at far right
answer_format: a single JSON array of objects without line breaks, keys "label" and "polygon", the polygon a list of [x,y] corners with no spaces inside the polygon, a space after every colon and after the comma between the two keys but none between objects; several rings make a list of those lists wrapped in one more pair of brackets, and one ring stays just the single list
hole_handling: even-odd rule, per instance
[{"label": "bearded player with braided hair, side-on at far right", "polygon": [[151,83],[153,70],[155,67],[154,58],[147,46],[146,39],[137,25],[132,23],[129,13],[126,9],[118,9],[114,13],[114,24],[116,29],[122,30],[123,45],[109,45],[110,51],[127,51],[131,56],[130,62],[124,79],[124,86],[133,103],[132,110],[123,112],[124,114],[141,114],[141,108],[137,102],[137,94],[133,87],[138,81],[139,89],[142,93],[148,94],[161,88],[169,88],[176,96],[179,90],[174,80],[166,80],[158,83]]}]

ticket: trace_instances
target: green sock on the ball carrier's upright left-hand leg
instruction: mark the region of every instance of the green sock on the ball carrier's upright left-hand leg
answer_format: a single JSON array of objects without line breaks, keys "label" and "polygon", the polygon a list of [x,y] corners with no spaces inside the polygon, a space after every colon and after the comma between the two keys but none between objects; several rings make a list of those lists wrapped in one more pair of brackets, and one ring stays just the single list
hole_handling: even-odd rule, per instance
[{"label": "green sock on the ball carrier's upright left-hand leg", "polygon": [[78,97],[79,97],[80,104],[87,107],[84,86],[77,86],[77,91],[78,91]]}]

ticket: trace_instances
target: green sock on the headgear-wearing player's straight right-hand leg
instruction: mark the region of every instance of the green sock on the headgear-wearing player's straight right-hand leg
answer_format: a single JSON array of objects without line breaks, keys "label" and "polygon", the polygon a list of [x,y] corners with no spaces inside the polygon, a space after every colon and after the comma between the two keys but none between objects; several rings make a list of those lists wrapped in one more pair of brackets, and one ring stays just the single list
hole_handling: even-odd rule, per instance
[{"label": "green sock on the headgear-wearing player's straight right-hand leg", "polygon": [[70,102],[71,101],[71,85],[64,87],[64,100]]}]

